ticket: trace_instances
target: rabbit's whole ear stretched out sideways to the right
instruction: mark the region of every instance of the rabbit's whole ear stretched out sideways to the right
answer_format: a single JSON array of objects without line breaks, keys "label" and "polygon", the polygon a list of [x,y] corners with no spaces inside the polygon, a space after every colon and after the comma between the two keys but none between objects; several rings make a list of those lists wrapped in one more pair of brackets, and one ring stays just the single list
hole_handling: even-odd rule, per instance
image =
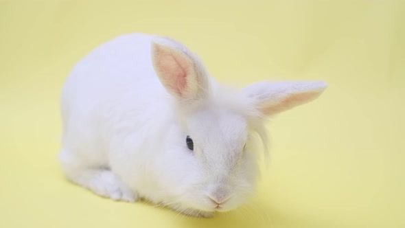
[{"label": "rabbit's whole ear stretched out sideways to the right", "polygon": [[263,115],[275,115],[310,102],[326,89],[325,82],[256,82],[242,92]]}]

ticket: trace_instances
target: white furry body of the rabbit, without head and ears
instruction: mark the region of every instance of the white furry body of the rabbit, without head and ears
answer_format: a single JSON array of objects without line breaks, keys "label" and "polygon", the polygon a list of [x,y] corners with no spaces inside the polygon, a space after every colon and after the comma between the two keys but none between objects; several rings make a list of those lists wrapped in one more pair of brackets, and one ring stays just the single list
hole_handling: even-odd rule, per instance
[{"label": "white furry body of the rabbit, without head and ears", "polygon": [[[163,148],[171,147],[168,142],[176,146],[175,137],[183,133],[175,123],[171,97],[152,67],[152,39],[160,38],[120,36],[95,49],[76,65],[62,92],[62,166],[71,179],[90,168],[100,177],[95,192],[103,196],[135,201],[139,193],[161,203],[178,194],[176,186],[165,186],[168,180],[188,175],[164,162],[176,153]],[[179,144],[183,142],[182,137]],[[192,166],[176,160],[179,166]]]}]

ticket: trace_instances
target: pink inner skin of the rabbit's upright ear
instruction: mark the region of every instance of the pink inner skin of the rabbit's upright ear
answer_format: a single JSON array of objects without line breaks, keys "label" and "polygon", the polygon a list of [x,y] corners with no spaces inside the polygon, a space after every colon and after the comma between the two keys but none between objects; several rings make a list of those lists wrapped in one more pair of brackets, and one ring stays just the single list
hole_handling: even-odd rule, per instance
[{"label": "pink inner skin of the rabbit's upright ear", "polygon": [[176,95],[183,97],[187,89],[189,62],[185,56],[166,49],[157,48],[155,54],[157,55],[156,63],[163,84]]}]

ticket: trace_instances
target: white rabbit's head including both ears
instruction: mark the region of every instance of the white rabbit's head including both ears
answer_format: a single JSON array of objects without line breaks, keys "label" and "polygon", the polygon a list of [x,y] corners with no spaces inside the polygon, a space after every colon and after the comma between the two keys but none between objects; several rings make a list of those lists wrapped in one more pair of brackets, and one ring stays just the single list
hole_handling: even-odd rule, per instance
[{"label": "white rabbit's head including both ears", "polygon": [[[264,119],[317,98],[324,82],[256,82],[241,91],[220,87],[185,47],[152,44],[155,71],[175,100],[183,148],[192,160],[183,207],[228,211],[251,195],[257,177],[253,135],[266,141]],[[179,183],[180,184],[180,183]]]}]

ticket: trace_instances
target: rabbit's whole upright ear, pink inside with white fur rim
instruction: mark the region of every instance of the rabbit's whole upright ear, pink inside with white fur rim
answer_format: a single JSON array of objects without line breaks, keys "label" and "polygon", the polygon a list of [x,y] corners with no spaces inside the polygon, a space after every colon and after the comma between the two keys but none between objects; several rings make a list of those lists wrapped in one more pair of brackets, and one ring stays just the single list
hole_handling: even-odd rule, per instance
[{"label": "rabbit's whole upright ear, pink inside with white fur rim", "polygon": [[178,100],[196,100],[207,95],[207,76],[192,54],[152,43],[152,64],[163,87]]}]

